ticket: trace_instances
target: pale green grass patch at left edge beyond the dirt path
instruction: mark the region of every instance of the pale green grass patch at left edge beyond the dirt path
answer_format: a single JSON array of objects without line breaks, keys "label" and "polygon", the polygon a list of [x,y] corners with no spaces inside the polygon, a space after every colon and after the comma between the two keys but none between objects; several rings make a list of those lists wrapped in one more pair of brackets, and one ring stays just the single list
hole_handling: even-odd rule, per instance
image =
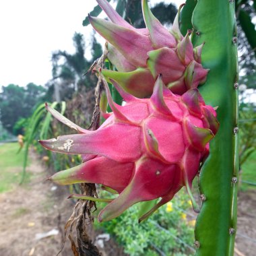
[{"label": "pale green grass patch at left edge beyond the dirt path", "polygon": [[[18,143],[0,145],[0,193],[11,191],[22,179],[24,151],[17,154],[19,148]],[[28,181],[30,181],[29,172],[26,174],[25,183]]]}]

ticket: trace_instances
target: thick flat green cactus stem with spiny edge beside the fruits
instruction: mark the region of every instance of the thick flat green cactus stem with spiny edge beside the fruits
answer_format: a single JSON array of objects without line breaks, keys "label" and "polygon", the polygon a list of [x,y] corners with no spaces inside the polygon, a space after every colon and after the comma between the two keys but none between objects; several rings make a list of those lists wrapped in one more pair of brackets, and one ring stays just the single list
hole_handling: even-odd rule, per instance
[{"label": "thick flat green cactus stem with spiny edge beside the fruits", "polygon": [[203,67],[210,69],[200,92],[218,106],[220,129],[199,175],[203,204],[195,226],[197,256],[234,253],[236,233],[237,49],[234,1],[198,0],[193,11],[193,43],[205,42]]}]

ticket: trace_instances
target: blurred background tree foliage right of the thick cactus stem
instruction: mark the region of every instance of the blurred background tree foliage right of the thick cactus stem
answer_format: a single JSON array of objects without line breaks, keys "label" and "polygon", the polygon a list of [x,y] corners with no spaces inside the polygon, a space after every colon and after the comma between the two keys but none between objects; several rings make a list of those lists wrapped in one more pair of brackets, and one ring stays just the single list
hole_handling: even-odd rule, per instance
[{"label": "blurred background tree foliage right of the thick cactus stem", "polygon": [[[240,106],[239,106],[239,170],[243,179],[242,166],[255,152],[256,111],[255,102],[247,102],[248,92],[255,94],[256,89],[256,30],[252,23],[256,15],[255,1],[236,1],[236,18],[238,20],[238,63]],[[247,90],[250,89],[250,90]],[[253,89],[253,90],[252,90]],[[246,96],[247,95],[247,96]]]}]

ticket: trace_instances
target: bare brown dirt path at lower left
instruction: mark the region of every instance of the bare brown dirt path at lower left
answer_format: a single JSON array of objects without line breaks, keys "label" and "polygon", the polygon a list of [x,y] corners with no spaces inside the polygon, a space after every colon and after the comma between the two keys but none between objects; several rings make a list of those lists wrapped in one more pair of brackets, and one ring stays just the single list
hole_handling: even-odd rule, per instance
[{"label": "bare brown dirt path at lower left", "polygon": [[[65,189],[44,181],[49,173],[38,162],[32,154],[29,184],[0,194],[0,255],[53,256],[61,248],[60,230],[73,206],[71,201],[63,200],[68,195]],[[36,239],[36,235],[51,230],[59,234]],[[68,243],[62,255],[72,255]]]}]

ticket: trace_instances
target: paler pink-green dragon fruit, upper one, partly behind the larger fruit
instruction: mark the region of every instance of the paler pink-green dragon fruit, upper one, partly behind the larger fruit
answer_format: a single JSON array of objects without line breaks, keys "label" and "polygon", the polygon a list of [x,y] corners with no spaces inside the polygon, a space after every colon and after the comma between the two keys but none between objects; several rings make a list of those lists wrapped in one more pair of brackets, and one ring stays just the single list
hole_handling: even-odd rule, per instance
[{"label": "paler pink-green dragon fruit, upper one, partly behind the larger fruit", "polygon": [[[97,0],[111,22],[89,16],[94,29],[108,41],[108,59],[118,71],[102,69],[108,79],[115,79],[127,92],[139,98],[150,96],[160,73],[164,84],[183,94],[205,82],[207,70],[201,65],[203,44],[195,47],[179,30],[179,13],[170,32],[160,24],[141,0],[147,28],[136,29],[111,7],[106,0]],[[109,82],[109,80],[108,80]]]}]

